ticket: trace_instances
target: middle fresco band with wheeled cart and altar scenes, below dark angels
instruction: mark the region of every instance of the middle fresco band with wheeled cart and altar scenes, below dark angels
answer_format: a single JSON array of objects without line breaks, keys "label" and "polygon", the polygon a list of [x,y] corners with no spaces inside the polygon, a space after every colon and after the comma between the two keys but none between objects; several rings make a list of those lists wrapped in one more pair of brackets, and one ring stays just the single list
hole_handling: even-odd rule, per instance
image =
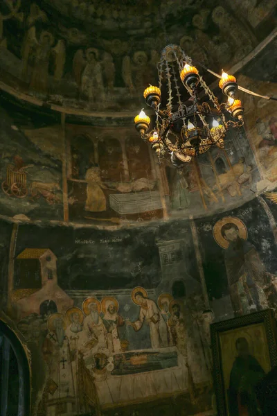
[{"label": "middle fresco band with wheeled cart and altar scenes, below dark angels", "polygon": [[255,198],[264,183],[244,129],[229,132],[226,150],[177,170],[159,164],[133,128],[62,124],[58,113],[7,105],[7,96],[3,105],[2,135],[14,137],[2,155],[6,216],[118,227],[206,216]]}]

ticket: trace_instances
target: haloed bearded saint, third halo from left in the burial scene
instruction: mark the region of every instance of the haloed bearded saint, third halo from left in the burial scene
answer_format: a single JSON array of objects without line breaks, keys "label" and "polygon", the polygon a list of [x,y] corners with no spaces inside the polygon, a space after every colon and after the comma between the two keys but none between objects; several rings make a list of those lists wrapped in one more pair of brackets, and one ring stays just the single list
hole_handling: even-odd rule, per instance
[{"label": "haloed bearded saint, third halo from left in the burial scene", "polygon": [[84,301],[82,308],[87,315],[84,318],[84,349],[97,351],[99,348],[105,347],[107,336],[107,329],[100,317],[100,302],[96,298],[90,297]]}]

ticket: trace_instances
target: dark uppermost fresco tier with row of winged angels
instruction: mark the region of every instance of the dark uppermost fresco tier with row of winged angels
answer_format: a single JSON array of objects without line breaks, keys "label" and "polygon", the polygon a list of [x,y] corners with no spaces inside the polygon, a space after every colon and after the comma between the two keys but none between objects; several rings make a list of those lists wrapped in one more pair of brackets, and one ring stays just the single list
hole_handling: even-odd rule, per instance
[{"label": "dark uppermost fresco tier with row of winged angels", "polygon": [[[12,87],[16,80],[21,91],[48,103],[98,111],[135,109],[139,92],[156,81],[159,53],[166,46],[164,36],[156,32],[157,28],[161,32],[162,19],[169,28],[168,43],[177,42],[188,55],[218,72],[258,44],[259,24],[264,37],[270,33],[275,6],[274,1],[267,2],[267,13],[262,13],[263,3],[248,2],[242,21],[236,19],[242,6],[233,8],[231,3],[224,8],[217,0],[208,5],[203,0],[176,1],[175,16],[168,13],[166,1],[159,6],[147,1],[143,7],[130,1],[107,8],[90,1],[46,3],[18,0],[1,5],[3,79]],[[186,15],[186,28],[176,30],[172,19],[178,15]],[[53,27],[51,22],[57,19]],[[97,35],[87,31],[91,26]],[[122,30],[128,39],[114,37],[114,31]]]}]

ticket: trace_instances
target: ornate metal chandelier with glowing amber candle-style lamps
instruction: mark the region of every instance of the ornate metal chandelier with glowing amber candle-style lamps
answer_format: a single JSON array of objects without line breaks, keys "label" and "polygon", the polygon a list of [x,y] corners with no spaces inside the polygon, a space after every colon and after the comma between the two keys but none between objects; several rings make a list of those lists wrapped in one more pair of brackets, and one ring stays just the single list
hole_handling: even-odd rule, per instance
[{"label": "ornate metal chandelier with glowing amber candle-style lamps", "polygon": [[159,159],[170,154],[177,168],[212,146],[223,149],[227,130],[243,125],[244,109],[235,99],[235,77],[222,71],[219,86],[228,98],[220,104],[179,46],[163,49],[157,69],[159,87],[150,85],[143,93],[146,104],[154,110],[154,119],[143,110],[134,119],[141,139],[151,144]]}]

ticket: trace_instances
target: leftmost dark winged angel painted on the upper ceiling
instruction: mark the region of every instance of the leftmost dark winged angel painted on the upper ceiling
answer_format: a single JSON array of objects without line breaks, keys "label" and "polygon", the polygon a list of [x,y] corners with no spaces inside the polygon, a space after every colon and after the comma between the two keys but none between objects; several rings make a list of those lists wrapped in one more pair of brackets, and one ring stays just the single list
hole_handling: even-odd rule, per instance
[{"label": "leftmost dark winged angel painted on the upper ceiling", "polygon": [[37,40],[35,26],[26,33],[22,47],[23,75],[27,76],[28,63],[33,61],[33,71],[29,88],[33,91],[44,92],[48,90],[48,70],[51,55],[55,60],[54,78],[60,80],[64,70],[65,46],[64,41],[59,40],[53,48],[54,37],[51,33],[42,31]]}]

